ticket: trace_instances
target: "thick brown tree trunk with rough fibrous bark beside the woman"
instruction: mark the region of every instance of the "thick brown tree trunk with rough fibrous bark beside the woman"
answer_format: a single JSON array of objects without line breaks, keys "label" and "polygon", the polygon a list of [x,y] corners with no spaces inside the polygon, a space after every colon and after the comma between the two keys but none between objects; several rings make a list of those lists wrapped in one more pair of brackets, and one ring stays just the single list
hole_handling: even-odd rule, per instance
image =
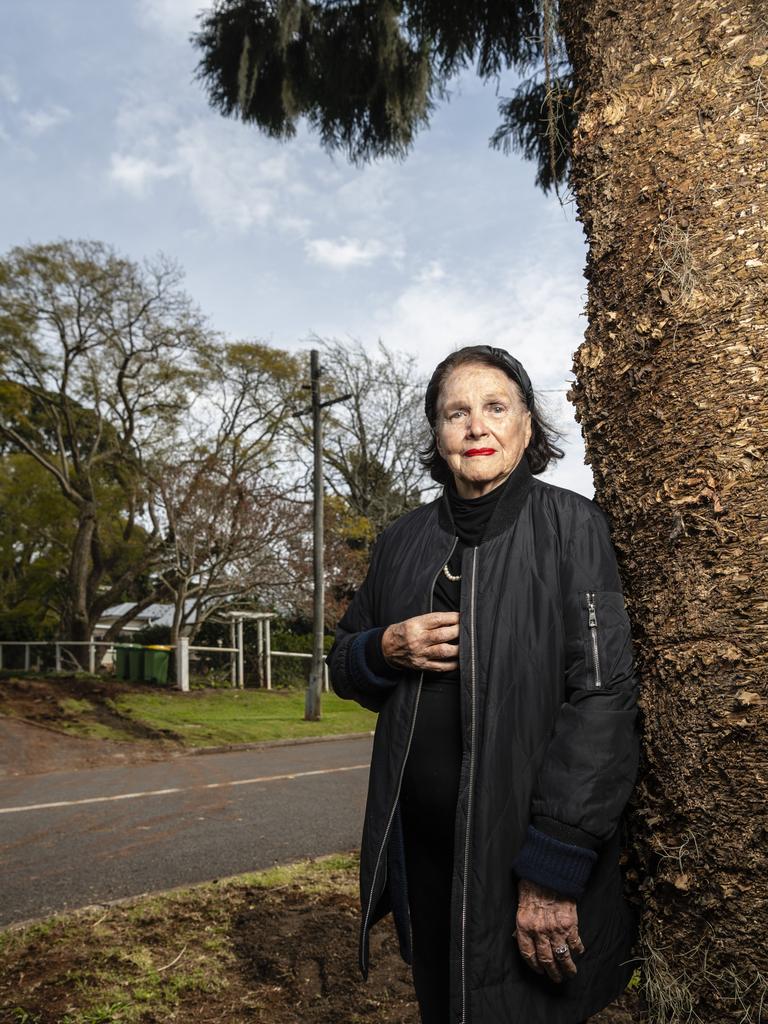
[{"label": "thick brown tree trunk with rough fibrous bark beside the woman", "polygon": [[572,396],[642,670],[653,1022],[768,1020],[768,7],[561,0]]}]

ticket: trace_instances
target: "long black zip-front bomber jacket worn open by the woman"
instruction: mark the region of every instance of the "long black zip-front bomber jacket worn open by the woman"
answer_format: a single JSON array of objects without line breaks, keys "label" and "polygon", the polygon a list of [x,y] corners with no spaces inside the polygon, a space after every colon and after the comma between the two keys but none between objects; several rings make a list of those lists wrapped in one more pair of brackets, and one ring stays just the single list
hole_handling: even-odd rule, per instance
[{"label": "long black zip-front bomber jacket worn open by the woman", "polygon": [[[415,672],[372,678],[366,637],[430,610],[455,544],[444,496],[386,529],[328,658],[336,692],[379,713],[360,848],[364,974],[370,929],[390,909],[410,956],[398,797],[421,689]],[[637,686],[605,517],[523,459],[462,578],[451,1024],[573,1024],[632,973],[617,826],[637,771]],[[558,842],[592,868],[571,858],[586,951],[559,985],[530,971],[513,934],[515,868],[536,880]]]}]

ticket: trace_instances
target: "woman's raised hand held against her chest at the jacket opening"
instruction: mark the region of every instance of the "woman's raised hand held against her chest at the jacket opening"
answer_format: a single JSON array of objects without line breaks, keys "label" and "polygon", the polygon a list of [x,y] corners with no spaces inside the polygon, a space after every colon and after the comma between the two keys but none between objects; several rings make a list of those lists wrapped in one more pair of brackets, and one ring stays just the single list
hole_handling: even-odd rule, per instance
[{"label": "woman's raised hand held against her chest at the jacket opening", "polygon": [[417,672],[451,672],[459,667],[459,612],[430,611],[388,626],[381,652],[390,665]]}]

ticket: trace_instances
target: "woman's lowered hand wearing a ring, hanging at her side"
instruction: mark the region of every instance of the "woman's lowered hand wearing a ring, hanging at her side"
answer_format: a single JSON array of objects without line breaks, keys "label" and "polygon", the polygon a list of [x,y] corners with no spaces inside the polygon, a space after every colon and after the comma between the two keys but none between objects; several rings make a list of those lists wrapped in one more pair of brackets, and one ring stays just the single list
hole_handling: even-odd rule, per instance
[{"label": "woman's lowered hand wearing a ring, hanging at her side", "polygon": [[534,971],[557,982],[577,973],[573,954],[583,953],[584,944],[575,900],[520,879],[516,934],[520,953]]}]

